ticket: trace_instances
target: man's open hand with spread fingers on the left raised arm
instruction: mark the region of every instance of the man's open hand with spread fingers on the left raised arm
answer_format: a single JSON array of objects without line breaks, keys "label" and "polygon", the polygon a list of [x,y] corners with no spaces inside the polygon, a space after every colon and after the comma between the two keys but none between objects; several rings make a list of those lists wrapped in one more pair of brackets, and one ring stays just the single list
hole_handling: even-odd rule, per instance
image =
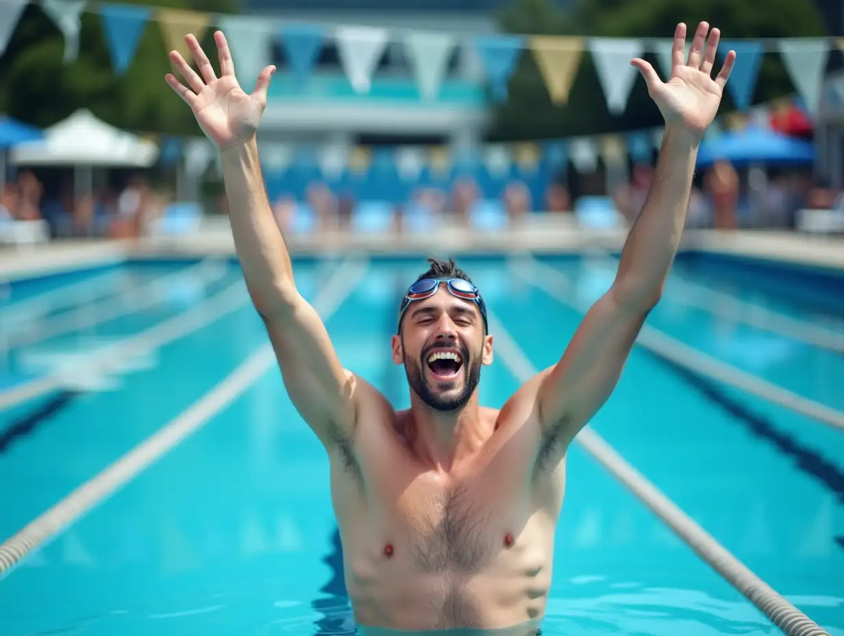
[{"label": "man's open hand with spread fingers on the left raised arm", "polygon": [[181,84],[172,73],[167,73],[167,84],[191,106],[200,128],[219,149],[241,144],[251,139],[267,107],[269,78],[275,67],[268,66],[258,75],[255,90],[247,95],[235,78],[229,45],[221,31],[214,33],[222,77],[217,77],[202,47],[193,35],[185,37],[193,59],[202,77],[194,71],[177,51],[170,52],[170,60],[190,88]]}]

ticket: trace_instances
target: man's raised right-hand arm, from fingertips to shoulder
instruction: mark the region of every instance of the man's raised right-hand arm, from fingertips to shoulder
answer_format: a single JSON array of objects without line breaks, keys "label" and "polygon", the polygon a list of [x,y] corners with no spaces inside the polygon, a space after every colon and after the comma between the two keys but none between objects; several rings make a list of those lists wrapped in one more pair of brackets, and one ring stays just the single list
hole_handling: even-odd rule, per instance
[{"label": "man's raised right-hand arm, from fingertips to shoulder", "polygon": [[711,79],[720,34],[711,30],[706,42],[707,31],[709,24],[698,26],[687,62],[685,24],[678,24],[667,83],[660,81],[649,63],[632,61],[663,114],[665,135],[651,190],[627,236],[614,284],[587,312],[560,361],[536,379],[543,426],[561,432],[567,441],[601,408],[618,383],[642,324],[662,295],[679,248],[698,144],[717,113],[735,62],[735,52],[728,52],[721,73]]}]

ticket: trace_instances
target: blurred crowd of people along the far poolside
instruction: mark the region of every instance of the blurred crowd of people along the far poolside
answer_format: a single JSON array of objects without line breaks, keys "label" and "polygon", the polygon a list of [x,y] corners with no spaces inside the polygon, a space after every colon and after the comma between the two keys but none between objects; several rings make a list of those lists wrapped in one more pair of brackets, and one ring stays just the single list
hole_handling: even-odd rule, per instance
[{"label": "blurred crowd of people along the far poolside", "polygon": [[[653,170],[645,163],[632,166],[627,182],[615,188],[611,196],[598,198],[629,226],[645,204]],[[19,171],[4,184],[0,220],[46,220],[54,238],[131,238],[149,234],[152,221],[166,215],[174,199],[137,174],[127,177],[119,188],[95,188],[81,196],[75,195],[72,179],[59,184],[55,187],[56,180],[51,180],[54,193],[47,193],[34,171]],[[348,230],[356,226],[355,215],[374,214],[376,208],[380,210],[377,214],[389,217],[387,223],[394,231],[424,228],[437,218],[460,225],[473,222],[473,215],[486,215],[488,220],[497,217],[493,225],[501,226],[534,213],[569,215],[572,220],[578,215],[578,197],[571,196],[563,179],[550,182],[538,194],[524,182],[511,181],[500,198],[484,198],[473,179],[457,178],[444,187],[416,188],[403,202],[373,202],[356,200],[350,192],[335,192],[327,183],[315,181],[302,198],[281,195],[271,205],[279,228],[285,232]],[[201,207],[204,214],[228,214],[225,193]],[[793,228],[800,209],[836,207],[844,207],[844,195],[808,172],[737,171],[729,163],[719,162],[695,177],[687,226]]]}]

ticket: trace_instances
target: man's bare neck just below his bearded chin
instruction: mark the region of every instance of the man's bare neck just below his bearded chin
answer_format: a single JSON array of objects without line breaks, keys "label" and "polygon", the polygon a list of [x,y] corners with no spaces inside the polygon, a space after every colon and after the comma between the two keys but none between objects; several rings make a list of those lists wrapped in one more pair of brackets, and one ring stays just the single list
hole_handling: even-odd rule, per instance
[{"label": "man's bare neck just below his bearded chin", "polygon": [[480,416],[477,397],[461,409],[441,411],[414,396],[410,416],[414,427],[412,443],[419,458],[446,472],[474,454],[492,434]]}]

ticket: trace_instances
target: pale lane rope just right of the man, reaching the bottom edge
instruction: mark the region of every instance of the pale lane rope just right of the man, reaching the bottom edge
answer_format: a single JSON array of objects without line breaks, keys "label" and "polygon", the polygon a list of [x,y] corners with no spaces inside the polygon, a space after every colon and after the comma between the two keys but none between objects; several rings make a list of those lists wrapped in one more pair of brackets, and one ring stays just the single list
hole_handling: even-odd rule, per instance
[{"label": "pale lane rope just right of the man, reaching the bottom edge", "polygon": [[[504,366],[519,382],[525,383],[533,378],[539,372],[538,368],[533,365],[527,354],[517,345],[516,340],[513,340],[511,334],[489,307],[487,318],[490,322],[490,333],[495,337],[495,351],[500,355]],[[766,617],[782,632],[787,633],[788,636],[830,636],[728,552],[715,537],[685,514],[676,503],[630,465],[591,427],[588,425],[584,427],[576,435],[575,442],[628,487],[642,503],[651,508],[687,546],[761,612],[764,612]]]}]

